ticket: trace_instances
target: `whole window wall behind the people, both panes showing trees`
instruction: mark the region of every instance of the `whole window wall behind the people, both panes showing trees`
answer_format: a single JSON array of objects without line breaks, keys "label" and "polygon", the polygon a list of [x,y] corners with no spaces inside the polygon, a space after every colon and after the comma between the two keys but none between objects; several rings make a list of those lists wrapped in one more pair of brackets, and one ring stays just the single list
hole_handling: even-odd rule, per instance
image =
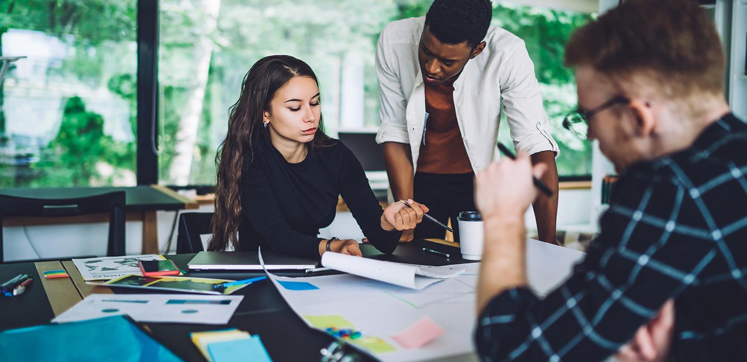
[{"label": "whole window wall behind the people, both panes showing trees", "polygon": [[[228,109],[249,67],[268,54],[311,65],[329,134],[375,129],[379,33],[388,22],[424,15],[431,2],[159,0],[158,181],[214,184]],[[494,2],[493,24],[521,37],[535,63],[562,152],[560,175],[588,175],[589,144],[560,124],[575,104],[563,46],[592,14]],[[25,56],[0,86],[0,187],[136,183],[137,3],[0,3],[0,56]]]}]

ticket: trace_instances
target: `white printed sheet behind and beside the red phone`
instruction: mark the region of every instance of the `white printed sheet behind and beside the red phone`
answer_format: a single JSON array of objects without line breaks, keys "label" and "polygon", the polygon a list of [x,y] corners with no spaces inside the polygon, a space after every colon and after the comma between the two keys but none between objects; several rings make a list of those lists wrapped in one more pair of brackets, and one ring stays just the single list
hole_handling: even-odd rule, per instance
[{"label": "white printed sheet behind and beside the red phone", "polygon": [[163,255],[129,255],[124,257],[103,257],[72,259],[81,272],[84,281],[97,281],[119,278],[128,274],[140,274],[137,260],[166,260]]}]

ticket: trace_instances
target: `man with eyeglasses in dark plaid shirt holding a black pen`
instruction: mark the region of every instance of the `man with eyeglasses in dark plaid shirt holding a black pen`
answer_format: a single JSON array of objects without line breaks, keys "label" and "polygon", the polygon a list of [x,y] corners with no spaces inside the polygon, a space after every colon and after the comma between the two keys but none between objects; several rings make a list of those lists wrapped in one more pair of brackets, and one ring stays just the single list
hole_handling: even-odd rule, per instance
[{"label": "man with eyeglasses in dark plaid shirt holding a black pen", "polygon": [[522,213],[543,167],[522,154],[478,173],[480,358],[747,361],[747,125],[712,20],[696,1],[627,0],[571,37],[565,63],[579,103],[565,125],[620,178],[586,258],[540,300]]}]

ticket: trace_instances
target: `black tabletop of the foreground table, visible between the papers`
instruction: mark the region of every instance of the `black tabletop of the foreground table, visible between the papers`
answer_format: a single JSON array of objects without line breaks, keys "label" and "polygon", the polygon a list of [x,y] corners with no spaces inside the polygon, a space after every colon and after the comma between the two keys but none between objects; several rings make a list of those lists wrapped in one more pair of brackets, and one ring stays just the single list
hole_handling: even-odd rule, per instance
[{"label": "black tabletop of the foreground table, visible between the papers", "polygon": [[[427,246],[440,252],[450,253],[451,258],[423,252]],[[459,249],[430,243],[425,240],[415,240],[412,243],[401,243],[392,255],[382,255],[373,246],[365,244],[361,247],[366,258],[396,261],[400,263],[419,263],[425,265],[448,265],[454,263],[472,263],[463,260]],[[167,255],[182,270],[187,271],[187,263],[195,254]],[[34,263],[0,264],[0,277],[5,280],[21,272],[33,272],[36,275]],[[13,274],[15,273],[15,274]],[[276,272],[283,276],[312,276],[304,272]],[[317,272],[313,275],[338,274],[335,271]],[[264,272],[189,272],[187,276],[200,278],[224,278],[239,280],[264,275]],[[1,279],[0,278],[0,279]],[[114,293],[143,293],[142,290],[113,288]],[[159,290],[158,293],[169,293]],[[39,294],[37,296],[36,294]],[[269,280],[255,282],[237,290],[233,295],[243,295],[244,300],[239,305],[228,325],[196,325],[179,323],[146,323],[155,337],[172,349],[185,361],[205,361],[199,350],[190,340],[190,332],[210,331],[223,328],[238,328],[250,334],[258,334],[273,361],[319,361],[320,349],[329,346],[333,338],[329,335],[309,328],[296,313],[288,306],[280,293]],[[23,299],[19,299],[22,297]],[[3,313],[7,310],[12,315],[0,323],[0,329],[15,328],[25,325],[37,325],[49,322],[53,318],[52,308],[44,294],[43,287],[30,288],[22,296],[6,298],[0,302]],[[26,302],[25,302],[26,301]],[[29,302],[31,301],[31,302]],[[28,303],[28,304],[26,304]],[[10,309],[8,309],[10,308]],[[365,308],[362,302],[361,308]],[[9,323],[9,324],[8,324]],[[368,361],[362,356],[361,361]]]}]

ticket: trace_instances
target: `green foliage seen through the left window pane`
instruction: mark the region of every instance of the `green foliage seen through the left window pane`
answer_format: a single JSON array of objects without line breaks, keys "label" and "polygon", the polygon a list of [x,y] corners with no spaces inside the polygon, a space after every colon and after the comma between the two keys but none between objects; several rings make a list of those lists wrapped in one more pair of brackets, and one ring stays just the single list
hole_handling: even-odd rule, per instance
[{"label": "green foliage seen through the left window pane", "polygon": [[[47,70],[47,76],[71,82],[72,89],[108,89],[121,96],[128,103],[130,128],[135,134],[136,18],[137,0],[1,1],[0,37],[9,28],[42,31],[57,37],[69,46],[69,52],[61,66]],[[89,94],[96,97],[92,92]],[[134,171],[136,144],[115,142],[104,134],[105,120],[86,110],[81,97],[73,96],[66,101],[60,129],[49,147],[39,150],[40,160],[16,166],[28,167],[30,176],[13,179],[4,172],[0,184],[14,187],[111,184],[122,172]],[[0,121],[3,119],[0,113]],[[103,163],[114,168],[114,173],[106,178],[97,169]]]}]

